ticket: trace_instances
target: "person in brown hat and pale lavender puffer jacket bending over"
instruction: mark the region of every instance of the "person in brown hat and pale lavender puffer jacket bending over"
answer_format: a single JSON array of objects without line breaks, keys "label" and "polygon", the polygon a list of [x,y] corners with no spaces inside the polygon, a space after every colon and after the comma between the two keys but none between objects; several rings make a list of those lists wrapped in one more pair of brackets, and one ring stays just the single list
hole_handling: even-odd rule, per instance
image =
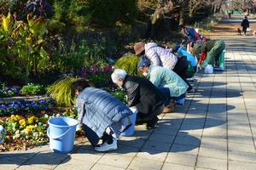
[{"label": "person in brown hat and pale lavender puffer jacket bending over", "polygon": [[170,50],[161,48],[154,42],[137,42],[134,44],[134,51],[142,58],[149,59],[151,65],[163,66],[176,72],[188,84],[188,91],[192,90],[192,86],[186,77],[186,71],[188,69],[187,59],[177,57]]}]

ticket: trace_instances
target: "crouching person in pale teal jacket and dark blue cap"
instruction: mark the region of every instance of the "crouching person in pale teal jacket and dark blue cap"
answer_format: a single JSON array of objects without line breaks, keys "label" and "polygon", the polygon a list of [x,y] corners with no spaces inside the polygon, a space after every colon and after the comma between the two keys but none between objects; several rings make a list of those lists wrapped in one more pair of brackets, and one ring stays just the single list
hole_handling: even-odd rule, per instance
[{"label": "crouching person in pale teal jacket and dark blue cap", "polygon": [[177,105],[183,105],[186,92],[189,86],[174,71],[170,69],[151,65],[147,59],[141,59],[138,64],[139,70],[143,75],[154,84],[168,99],[166,105],[175,99]]}]

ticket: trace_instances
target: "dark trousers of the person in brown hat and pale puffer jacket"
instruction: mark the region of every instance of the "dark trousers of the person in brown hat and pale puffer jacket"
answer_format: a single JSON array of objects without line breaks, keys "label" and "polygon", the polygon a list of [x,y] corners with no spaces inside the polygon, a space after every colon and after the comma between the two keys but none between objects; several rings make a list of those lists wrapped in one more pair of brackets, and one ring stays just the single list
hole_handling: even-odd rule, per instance
[{"label": "dark trousers of the person in brown hat and pale puffer jacket", "polygon": [[192,86],[187,81],[186,71],[188,69],[188,61],[184,57],[177,58],[177,63],[172,71],[176,72],[179,77],[183,79],[189,86],[188,91],[192,89]]}]

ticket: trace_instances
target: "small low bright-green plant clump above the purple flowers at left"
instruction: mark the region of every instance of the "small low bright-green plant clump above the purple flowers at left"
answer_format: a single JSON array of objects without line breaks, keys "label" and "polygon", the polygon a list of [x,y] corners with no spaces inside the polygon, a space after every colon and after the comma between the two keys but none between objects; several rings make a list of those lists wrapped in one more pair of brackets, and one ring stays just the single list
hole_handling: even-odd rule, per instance
[{"label": "small low bright-green plant clump above the purple flowers at left", "polygon": [[24,95],[45,94],[45,88],[42,85],[28,83],[21,88],[20,93]]}]

